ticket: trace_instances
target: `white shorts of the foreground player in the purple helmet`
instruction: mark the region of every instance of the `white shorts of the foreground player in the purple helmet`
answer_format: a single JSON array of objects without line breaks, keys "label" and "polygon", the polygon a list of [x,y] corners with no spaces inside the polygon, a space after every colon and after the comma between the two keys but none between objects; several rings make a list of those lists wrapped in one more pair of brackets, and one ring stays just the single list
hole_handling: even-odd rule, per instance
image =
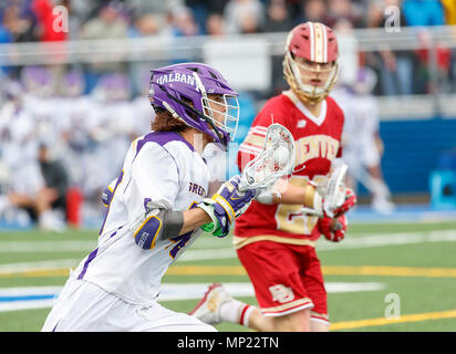
[{"label": "white shorts of the foreground player in the purple helmet", "polygon": [[155,301],[123,301],[94,283],[69,279],[42,332],[216,332],[211,325]]}]

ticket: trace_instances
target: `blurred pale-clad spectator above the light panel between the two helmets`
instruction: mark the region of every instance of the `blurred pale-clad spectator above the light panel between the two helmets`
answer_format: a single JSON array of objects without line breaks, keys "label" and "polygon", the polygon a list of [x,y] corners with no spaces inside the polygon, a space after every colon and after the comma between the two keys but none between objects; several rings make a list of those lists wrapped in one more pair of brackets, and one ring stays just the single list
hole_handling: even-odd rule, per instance
[{"label": "blurred pale-clad spectator above the light panel between the two helmets", "polygon": [[228,33],[251,33],[265,23],[265,6],[260,0],[229,0],[224,18]]}]

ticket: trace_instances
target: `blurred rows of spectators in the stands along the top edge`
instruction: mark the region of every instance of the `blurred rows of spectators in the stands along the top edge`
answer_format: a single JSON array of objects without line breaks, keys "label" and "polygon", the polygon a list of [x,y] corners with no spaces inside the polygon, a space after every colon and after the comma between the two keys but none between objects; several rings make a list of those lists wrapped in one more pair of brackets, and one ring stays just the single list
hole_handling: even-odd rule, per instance
[{"label": "blurred rows of spectators in the stands along the top edge", "polygon": [[[69,13],[68,31],[53,29],[59,12]],[[322,22],[335,30],[385,28],[388,7],[397,7],[401,27],[456,24],[453,0],[7,0],[0,4],[0,43],[72,40],[120,40],[288,32],[304,21]],[[423,34],[423,42],[426,37]],[[447,79],[444,90],[455,92],[455,55],[438,49],[438,69]],[[379,74],[376,95],[426,93],[428,52],[382,50],[363,58]],[[85,93],[110,72],[128,74],[132,94],[138,79],[127,63],[106,62],[83,67]],[[3,67],[19,77],[20,66]],[[395,77],[397,76],[397,77]],[[281,87],[279,87],[281,88]]]}]

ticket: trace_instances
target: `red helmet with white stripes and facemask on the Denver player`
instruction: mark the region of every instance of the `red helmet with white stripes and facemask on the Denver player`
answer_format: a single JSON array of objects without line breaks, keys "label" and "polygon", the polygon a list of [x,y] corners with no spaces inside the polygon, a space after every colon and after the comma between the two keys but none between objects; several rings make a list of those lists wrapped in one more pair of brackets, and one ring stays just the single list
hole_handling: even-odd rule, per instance
[{"label": "red helmet with white stripes and facemask on the Denver player", "polygon": [[323,101],[338,80],[338,40],[322,24],[297,25],[287,38],[283,74],[290,88],[303,102]]}]

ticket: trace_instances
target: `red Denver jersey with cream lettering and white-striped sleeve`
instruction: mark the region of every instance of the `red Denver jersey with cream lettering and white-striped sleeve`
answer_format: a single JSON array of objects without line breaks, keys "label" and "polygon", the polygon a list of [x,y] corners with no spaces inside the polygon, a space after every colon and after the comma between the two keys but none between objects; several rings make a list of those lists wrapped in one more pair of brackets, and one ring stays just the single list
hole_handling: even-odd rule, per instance
[{"label": "red Denver jersey with cream lettering and white-striped sleeve", "polygon": [[[271,123],[282,124],[294,137],[296,173],[288,183],[304,187],[308,180],[321,183],[328,178],[332,160],[342,155],[344,116],[333,98],[322,101],[319,117],[313,116],[292,91],[270,98],[239,147],[240,170],[261,152],[266,131]],[[240,248],[257,240],[273,240],[314,246],[313,241],[320,237],[315,228],[318,217],[303,215],[301,208],[302,205],[265,205],[253,200],[247,211],[236,219],[235,244]]]}]

